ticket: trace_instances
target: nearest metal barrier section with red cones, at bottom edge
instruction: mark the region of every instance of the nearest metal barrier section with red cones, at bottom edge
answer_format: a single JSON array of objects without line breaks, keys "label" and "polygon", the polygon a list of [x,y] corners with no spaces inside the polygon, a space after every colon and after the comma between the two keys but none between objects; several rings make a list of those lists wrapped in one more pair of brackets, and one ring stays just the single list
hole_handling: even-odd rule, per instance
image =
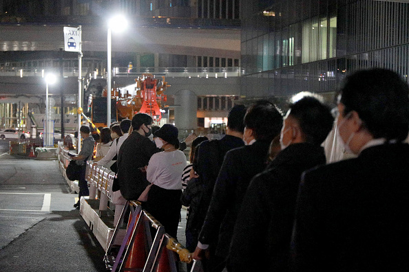
[{"label": "nearest metal barrier section with red cones, at bottom edge", "polygon": [[[142,209],[139,202],[127,201],[120,221],[123,220],[127,209],[131,208],[131,216],[127,226],[127,233],[114,256],[113,245],[120,229],[116,226],[112,239],[109,242],[104,261],[111,271],[178,271],[176,263],[191,263],[191,272],[202,272],[200,261],[193,260],[191,253],[175,239],[165,234],[165,228],[151,214]],[[152,235],[151,230],[156,231]],[[153,238],[153,240],[152,240]]]}]

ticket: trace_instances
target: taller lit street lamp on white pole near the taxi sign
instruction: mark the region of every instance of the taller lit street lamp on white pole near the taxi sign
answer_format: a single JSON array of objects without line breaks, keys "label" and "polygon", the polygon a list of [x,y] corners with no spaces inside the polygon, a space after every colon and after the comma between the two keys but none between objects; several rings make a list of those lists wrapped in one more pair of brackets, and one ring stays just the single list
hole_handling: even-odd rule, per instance
[{"label": "taller lit street lamp on white pole near the taxi sign", "polygon": [[107,37],[107,126],[111,125],[111,32],[122,32],[127,27],[127,20],[123,15],[116,15],[108,21],[108,37]]}]

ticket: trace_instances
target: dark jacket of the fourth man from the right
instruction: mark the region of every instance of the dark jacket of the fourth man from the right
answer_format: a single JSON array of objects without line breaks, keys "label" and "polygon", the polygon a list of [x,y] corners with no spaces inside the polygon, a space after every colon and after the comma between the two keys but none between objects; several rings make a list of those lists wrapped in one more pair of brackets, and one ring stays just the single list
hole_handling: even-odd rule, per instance
[{"label": "dark jacket of the fourth man from the right", "polygon": [[[197,207],[197,216],[191,221],[191,227],[199,229],[199,231],[202,229],[224,156],[229,150],[241,146],[244,146],[244,141],[241,138],[225,135],[220,140],[203,141],[196,149],[197,155],[195,162],[193,162],[193,169],[199,174],[197,183],[201,183],[202,192]],[[214,240],[217,240],[217,237]]]}]

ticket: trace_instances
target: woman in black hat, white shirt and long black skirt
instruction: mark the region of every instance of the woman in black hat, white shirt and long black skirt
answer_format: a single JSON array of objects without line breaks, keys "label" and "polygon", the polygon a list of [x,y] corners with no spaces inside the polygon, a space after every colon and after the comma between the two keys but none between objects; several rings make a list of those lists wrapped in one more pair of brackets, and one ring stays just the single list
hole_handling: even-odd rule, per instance
[{"label": "woman in black hat, white shirt and long black skirt", "polygon": [[152,183],[143,208],[176,238],[180,218],[180,177],[187,164],[185,153],[178,150],[178,128],[165,124],[155,133],[155,143],[162,152],[152,155],[147,166],[147,180]]}]

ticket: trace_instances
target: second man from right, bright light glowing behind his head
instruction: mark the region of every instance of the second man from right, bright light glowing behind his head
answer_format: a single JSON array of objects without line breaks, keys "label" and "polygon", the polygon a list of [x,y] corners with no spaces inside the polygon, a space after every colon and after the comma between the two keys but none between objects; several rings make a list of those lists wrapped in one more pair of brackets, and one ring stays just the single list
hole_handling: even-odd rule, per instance
[{"label": "second man from right, bright light glowing behind his head", "polygon": [[290,106],[280,134],[282,151],[269,170],[252,179],[244,196],[231,241],[229,271],[289,271],[301,174],[325,164],[320,144],[332,126],[331,111],[311,94]]}]

